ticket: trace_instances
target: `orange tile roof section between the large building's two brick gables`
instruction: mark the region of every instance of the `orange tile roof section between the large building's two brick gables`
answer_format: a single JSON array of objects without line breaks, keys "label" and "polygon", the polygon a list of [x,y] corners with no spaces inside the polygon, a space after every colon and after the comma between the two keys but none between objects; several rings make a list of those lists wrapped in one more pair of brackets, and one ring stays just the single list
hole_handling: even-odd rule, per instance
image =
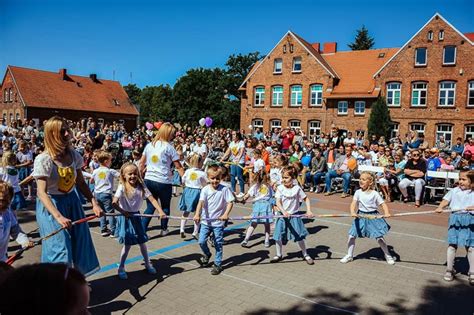
[{"label": "orange tile roof section between the large building's two brick gables", "polygon": [[382,48],[322,54],[340,78],[327,97],[377,97],[379,90],[375,89],[373,75],[398,50],[399,48]]}]

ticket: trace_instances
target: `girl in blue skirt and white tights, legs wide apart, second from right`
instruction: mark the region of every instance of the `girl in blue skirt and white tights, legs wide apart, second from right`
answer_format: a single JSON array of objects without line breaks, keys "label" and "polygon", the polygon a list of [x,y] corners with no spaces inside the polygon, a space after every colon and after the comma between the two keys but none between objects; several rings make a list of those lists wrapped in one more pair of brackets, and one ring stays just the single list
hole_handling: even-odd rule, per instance
[{"label": "girl in blue skirt and white tights, legs wide apart, second from right", "polygon": [[[369,237],[374,238],[379,243],[380,248],[385,254],[385,260],[389,265],[394,265],[395,260],[390,255],[385,243],[384,235],[390,230],[390,226],[387,224],[385,219],[368,219],[358,218],[357,214],[378,214],[378,207],[382,206],[384,211],[384,217],[390,217],[390,211],[388,210],[387,204],[384,202],[380,194],[374,190],[375,180],[372,174],[369,172],[362,172],[360,175],[360,189],[358,189],[351,203],[351,215],[356,219],[352,221],[352,226],[349,230],[349,240],[347,242],[347,255],[344,256],[340,262],[346,264],[354,260],[354,247],[355,239],[357,237]],[[358,209],[358,210],[357,210]],[[357,213],[356,213],[357,210]]]}]

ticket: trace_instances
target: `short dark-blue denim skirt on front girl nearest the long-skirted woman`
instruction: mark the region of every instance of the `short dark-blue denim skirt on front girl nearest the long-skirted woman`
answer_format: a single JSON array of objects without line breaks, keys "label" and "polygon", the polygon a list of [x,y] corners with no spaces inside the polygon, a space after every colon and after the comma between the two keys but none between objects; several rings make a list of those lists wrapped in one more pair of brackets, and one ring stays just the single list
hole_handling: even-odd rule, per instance
[{"label": "short dark-blue denim skirt on front girl nearest the long-skirted woman", "polygon": [[[138,214],[138,212],[134,212],[133,214]],[[117,231],[120,244],[137,245],[148,241],[148,236],[145,233],[140,217],[126,218],[123,215],[118,216]]]}]

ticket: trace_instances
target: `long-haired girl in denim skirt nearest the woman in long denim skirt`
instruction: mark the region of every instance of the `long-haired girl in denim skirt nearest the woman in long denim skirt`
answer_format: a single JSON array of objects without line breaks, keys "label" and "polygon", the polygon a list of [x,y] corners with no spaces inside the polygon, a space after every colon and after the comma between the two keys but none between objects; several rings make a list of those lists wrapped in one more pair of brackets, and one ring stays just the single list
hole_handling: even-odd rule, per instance
[{"label": "long-haired girl in denim skirt nearest the woman in long denim skirt", "polygon": [[156,269],[151,265],[148,258],[148,250],[145,244],[148,237],[140,218],[134,216],[140,213],[140,207],[144,198],[148,199],[158,210],[160,218],[166,218],[166,214],[156,199],[153,198],[150,191],[145,187],[139,175],[138,167],[133,163],[125,163],[120,169],[120,185],[112,201],[114,209],[123,214],[123,216],[117,219],[118,241],[120,244],[123,244],[117,272],[122,280],[128,278],[125,272],[125,260],[127,259],[130,247],[137,244],[140,246],[146,270],[149,274],[156,274]]}]

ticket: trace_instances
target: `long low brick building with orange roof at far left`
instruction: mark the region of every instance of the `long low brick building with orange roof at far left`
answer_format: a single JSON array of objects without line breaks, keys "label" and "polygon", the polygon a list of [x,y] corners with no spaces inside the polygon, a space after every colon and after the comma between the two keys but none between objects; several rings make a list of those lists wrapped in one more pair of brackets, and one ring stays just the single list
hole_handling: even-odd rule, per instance
[{"label": "long low brick building with orange roof at far left", "polygon": [[137,124],[138,111],[117,81],[8,66],[1,85],[2,117],[7,123],[53,115],[71,120],[92,117],[99,122],[117,121],[127,128]]}]

